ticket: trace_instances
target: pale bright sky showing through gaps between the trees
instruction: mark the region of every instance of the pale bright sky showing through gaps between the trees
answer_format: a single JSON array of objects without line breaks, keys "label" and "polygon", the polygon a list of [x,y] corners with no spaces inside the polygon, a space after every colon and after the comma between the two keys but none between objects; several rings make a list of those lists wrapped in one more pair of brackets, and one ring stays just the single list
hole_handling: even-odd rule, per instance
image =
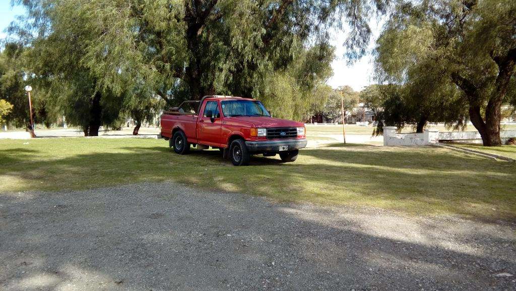
[{"label": "pale bright sky showing through gaps between the trees", "polygon": [[[6,36],[5,29],[17,15],[24,13],[21,6],[11,7],[10,0],[0,0],[0,39]],[[380,33],[382,22],[372,21],[371,30],[373,35],[369,43],[369,51],[374,48],[374,44]],[[338,86],[349,85],[356,91],[362,90],[365,86],[374,83],[373,80],[373,58],[370,54],[361,58],[355,64],[348,66],[344,59],[343,43],[346,40],[345,32],[334,32],[331,44],[335,46],[335,59],[331,64],[333,76],[328,80],[328,85],[336,88]]]}]

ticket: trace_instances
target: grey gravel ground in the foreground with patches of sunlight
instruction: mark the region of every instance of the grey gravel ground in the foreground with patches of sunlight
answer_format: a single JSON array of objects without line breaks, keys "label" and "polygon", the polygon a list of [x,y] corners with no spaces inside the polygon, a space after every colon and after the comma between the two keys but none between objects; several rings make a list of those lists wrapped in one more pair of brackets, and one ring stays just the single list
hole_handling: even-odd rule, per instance
[{"label": "grey gravel ground in the foreground with patches of sunlight", "polygon": [[0,194],[1,290],[516,290],[516,225],[175,183]]}]

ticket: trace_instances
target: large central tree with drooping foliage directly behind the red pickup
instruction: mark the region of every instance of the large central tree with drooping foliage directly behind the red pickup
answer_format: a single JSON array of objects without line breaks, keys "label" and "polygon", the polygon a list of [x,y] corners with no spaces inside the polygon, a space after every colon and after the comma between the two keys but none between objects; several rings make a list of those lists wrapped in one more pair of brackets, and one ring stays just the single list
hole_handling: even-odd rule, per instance
[{"label": "large central tree with drooping foliage directly behind the red pickup", "polygon": [[[324,61],[333,55],[327,28],[340,25],[342,16],[353,27],[346,42],[349,56],[360,56],[370,34],[368,18],[384,8],[380,0],[67,3],[93,20],[88,29],[100,35],[89,43],[84,64],[108,86],[127,83],[121,78],[145,80],[169,102],[178,96],[266,94],[269,77],[292,76],[289,66],[307,53]],[[309,91],[325,78],[320,67],[313,62],[294,79]]]}]

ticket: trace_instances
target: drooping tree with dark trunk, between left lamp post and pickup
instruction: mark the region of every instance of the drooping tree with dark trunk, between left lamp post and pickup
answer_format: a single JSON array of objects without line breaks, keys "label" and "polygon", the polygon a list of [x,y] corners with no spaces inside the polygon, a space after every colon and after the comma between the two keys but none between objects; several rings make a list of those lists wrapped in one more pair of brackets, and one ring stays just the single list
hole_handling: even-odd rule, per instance
[{"label": "drooping tree with dark trunk, between left lamp post and pickup", "polygon": [[98,135],[102,125],[118,118],[123,100],[83,62],[89,43],[99,38],[89,29],[92,20],[68,1],[20,2],[27,15],[11,24],[9,33],[24,48],[20,64],[44,112],[64,114],[86,136]]}]

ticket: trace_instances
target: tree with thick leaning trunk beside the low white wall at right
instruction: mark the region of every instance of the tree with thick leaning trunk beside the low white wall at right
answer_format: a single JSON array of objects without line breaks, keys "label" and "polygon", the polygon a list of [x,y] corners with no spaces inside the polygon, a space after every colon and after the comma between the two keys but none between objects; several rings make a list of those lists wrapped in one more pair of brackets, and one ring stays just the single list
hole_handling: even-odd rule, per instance
[{"label": "tree with thick leaning trunk beside the low white wall at right", "polygon": [[[376,62],[383,80],[425,85],[422,98],[439,110],[455,87],[483,144],[501,144],[501,106],[516,62],[516,2],[401,1],[385,25]],[[442,107],[441,107],[442,108]],[[457,115],[446,119],[454,122]]]}]

